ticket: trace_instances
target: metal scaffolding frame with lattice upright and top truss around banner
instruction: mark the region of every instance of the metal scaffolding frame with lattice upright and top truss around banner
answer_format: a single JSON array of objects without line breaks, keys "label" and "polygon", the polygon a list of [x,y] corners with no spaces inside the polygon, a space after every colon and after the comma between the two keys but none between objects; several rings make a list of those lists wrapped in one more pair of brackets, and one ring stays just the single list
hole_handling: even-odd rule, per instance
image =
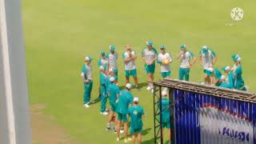
[{"label": "metal scaffolding frame with lattice upright and top truss around banner", "polygon": [[[256,103],[256,94],[251,92],[246,92],[242,90],[230,90],[217,86],[202,85],[196,82],[186,82],[177,79],[165,78],[159,82],[154,83],[154,143],[163,143],[162,135],[162,87],[169,89],[169,99],[170,104],[167,109],[173,109],[174,103],[178,102],[180,99],[174,102],[173,90],[185,90],[188,92],[194,92],[198,94],[210,94],[218,98],[229,98],[233,100],[252,102]],[[186,95],[186,93],[184,93]],[[171,125],[171,114],[170,114],[170,126]],[[174,127],[175,128],[175,127]]]}]

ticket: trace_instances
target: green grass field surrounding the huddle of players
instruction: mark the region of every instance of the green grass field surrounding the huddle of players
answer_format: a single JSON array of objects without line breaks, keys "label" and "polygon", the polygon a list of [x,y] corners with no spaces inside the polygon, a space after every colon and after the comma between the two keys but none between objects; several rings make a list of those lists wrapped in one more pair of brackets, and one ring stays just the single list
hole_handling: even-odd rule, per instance
[{"label": "green grass field surrounding the huddle of players", "polygon": [[[46,105],[44,114],[54,115],[74,142],[101,144],[115,142],[115,134],[107,132],[106,116],[99,114],[97,103],[82,107],[80,72],[85,55],[94,58],[94,90],[98,97],[97,60],[100,50],[115,45],[119,54],[119,83],[124,85],[121,54],[126,44],[140,54],[146,40],[154,46],[166,44],[167,50],[178,54],[183,43],[198,56],[202,45],[212,47],[218,54],[218,68],[232,65],[230,55],[242,56],[243,77],[250,90],[256,90],[256,1],[247,0],[23,0],[23,27],[26,42],[26,66],[30,104]],[[244,10],[242,21],[230,18],[234,7]],[[234,23],[237,26],[226,26]],[[171,64],[172,78],[178,78],[178,64]],[[138,58],[139,82],[146,82],[142,60]],[[159,67],[155,79],[160,79]],[[190,80],[202,82],[202,69],[193,66]],[[132,81],[133,82],[133,81]],[[144,143],[153,143],[153,100],[146,91],[133,91],[141,98],[146,110]]]}]

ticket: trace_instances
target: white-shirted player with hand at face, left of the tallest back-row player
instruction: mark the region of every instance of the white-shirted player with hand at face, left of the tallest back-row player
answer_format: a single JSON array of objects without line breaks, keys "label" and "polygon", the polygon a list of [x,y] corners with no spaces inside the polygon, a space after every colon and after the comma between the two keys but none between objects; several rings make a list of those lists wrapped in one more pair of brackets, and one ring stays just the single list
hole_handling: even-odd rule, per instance
[{"label": "white-shirted player with hand at face, left of the tallest back-row player", "polygon": [[135,66],[137,58],[135,51],[131,49],[130,45],[126,46],[126,51],[122,53],[123,62],[125,63],[126,83],[130,83],[130,76],[134,77],[135,88],[138,89],[138,77]]}]

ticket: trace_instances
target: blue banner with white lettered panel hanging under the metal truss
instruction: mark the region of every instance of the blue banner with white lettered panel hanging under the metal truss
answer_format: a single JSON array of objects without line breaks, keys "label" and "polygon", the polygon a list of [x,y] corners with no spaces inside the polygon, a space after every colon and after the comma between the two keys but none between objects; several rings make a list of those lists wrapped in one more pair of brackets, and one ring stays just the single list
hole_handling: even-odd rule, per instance
[{"label": "blue banner with white lettered panel hanging under the metal truss", "polygon": [[174,90],[178,144],[256,144],[256,104]]}]

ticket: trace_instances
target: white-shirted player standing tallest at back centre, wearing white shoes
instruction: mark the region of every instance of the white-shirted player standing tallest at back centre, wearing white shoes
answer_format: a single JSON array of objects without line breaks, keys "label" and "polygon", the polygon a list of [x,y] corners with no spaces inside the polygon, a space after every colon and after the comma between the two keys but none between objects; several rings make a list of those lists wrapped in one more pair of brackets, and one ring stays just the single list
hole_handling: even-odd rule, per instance
[{"label": "white-shirted player standing tallest at back centre, wearing white shoes", "polygon": [[153,81],[154,81],[154,69],[155,61],[158,59],[158,51],[153,47],[152,41],[146,41],[146,48],[142,50],[142,60],[145,62],[145,70],[148,77],[149,86],[146,90],[154,90]]}]

